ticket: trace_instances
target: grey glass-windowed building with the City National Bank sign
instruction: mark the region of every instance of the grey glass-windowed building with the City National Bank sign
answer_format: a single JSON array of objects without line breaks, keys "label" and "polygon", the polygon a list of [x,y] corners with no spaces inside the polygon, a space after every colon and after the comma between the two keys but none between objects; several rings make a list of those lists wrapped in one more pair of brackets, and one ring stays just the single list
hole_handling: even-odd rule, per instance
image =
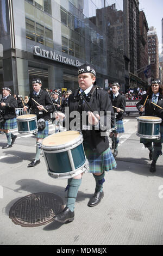
[{"label": "grey glass-windowed building with the City National Bank sign", "polygon": [[[29,95],[32,78],[40,77],[43,88],[73,90],[78,88],[77,68],[84,62],[95,65],[99,86],[107,87],[110,80],[123,86],[123,53],[114,41],[107,45],[113,39],[106,34],[105,17],[97,22],[109,2],[0,0],[0,89],[7,86],[15,94]],[[112,28],[114,22],[117,26],[110,16]]]}]

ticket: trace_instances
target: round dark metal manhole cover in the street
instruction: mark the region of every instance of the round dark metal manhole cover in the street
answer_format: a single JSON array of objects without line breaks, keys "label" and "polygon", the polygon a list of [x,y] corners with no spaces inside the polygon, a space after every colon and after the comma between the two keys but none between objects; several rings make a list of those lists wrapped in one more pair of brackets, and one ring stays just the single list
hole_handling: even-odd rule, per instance
[{"label": "round dark metal manhole cover in the street", "polygon": [[36,227],[52,221],[64,206],[56,194],[35,193],[18,200],[12,205],[9,217],[22,227]]}]

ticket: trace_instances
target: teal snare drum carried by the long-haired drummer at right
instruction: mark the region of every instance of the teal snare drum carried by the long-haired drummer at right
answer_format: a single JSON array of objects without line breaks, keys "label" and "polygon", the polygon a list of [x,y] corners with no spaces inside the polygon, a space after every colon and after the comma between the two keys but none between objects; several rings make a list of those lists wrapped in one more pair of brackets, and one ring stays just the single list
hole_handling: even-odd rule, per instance
[{"label": "teal snare drum carried by the long-haired drummer at right", "polygon": [[160,138],[160,123],[162,119],[159,117],[142,116],[137,118],[136,135],[146,139]]}]

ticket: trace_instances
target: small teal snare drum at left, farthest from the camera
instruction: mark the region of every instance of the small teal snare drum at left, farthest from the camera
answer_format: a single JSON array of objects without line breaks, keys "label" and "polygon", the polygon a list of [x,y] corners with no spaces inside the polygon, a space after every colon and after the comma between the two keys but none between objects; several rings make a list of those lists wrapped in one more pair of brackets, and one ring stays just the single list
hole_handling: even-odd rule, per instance
[{"label": "small teal snare drum at left, farthest from the camera", "polygon": [[34,114],[19,115],[17,118],[18,133],[29,134],[37,132],[37,116]]}]

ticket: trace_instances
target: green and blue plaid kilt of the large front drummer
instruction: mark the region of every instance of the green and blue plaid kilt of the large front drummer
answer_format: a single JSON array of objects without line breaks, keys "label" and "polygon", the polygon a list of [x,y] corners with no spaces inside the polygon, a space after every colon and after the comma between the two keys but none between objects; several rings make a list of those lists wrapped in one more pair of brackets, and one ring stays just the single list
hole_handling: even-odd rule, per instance
[{"label": "green and blue plaid kilt of the large front drummer", "polygon": [[89,161],[89,173],[103,173],[104,170],[112,170],[117,167],[114,156],[110,148],[106,149],[101,155],[93,153],[87,143],[83,143],[87,160]]}]

